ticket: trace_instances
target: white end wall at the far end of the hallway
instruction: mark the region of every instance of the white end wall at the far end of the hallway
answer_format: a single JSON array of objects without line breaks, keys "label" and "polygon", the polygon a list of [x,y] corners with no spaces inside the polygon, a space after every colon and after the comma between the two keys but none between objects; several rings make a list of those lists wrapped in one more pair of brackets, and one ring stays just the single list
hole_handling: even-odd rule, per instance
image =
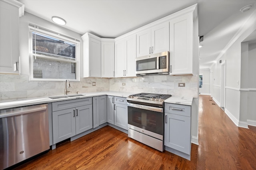
[{"label": "white end wall at the far end of the hallway", "polygon": [[203,75],[203,88],[199,88],[199,93],[201,95],[211,95],[210,94],[210,69],[200,69],[199,74]]}]

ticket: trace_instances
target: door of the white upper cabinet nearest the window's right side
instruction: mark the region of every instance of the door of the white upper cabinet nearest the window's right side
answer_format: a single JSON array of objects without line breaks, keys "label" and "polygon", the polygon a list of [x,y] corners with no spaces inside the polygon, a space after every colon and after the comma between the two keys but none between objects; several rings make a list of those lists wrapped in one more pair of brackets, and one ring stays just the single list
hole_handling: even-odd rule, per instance
[{"label": "door of the white upper cabinet nearest the window's right side", "polygon": [[101,77],[101,43],[89,38],[89,76]]}]

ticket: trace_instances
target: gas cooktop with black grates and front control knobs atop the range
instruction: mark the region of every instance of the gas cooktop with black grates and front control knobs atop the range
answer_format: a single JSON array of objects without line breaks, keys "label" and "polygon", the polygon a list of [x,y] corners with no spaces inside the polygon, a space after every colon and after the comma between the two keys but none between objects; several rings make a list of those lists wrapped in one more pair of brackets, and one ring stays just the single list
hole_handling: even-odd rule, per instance
[{"label": "gas cooktop with black grates and front control knobs atop the range", "polygon": [[172,95],[154,94],[154,93],[138,93],[130,95],[127,98],[128,103],[151,103],[156,105],[163,105],[164,100],[171,97]]}]

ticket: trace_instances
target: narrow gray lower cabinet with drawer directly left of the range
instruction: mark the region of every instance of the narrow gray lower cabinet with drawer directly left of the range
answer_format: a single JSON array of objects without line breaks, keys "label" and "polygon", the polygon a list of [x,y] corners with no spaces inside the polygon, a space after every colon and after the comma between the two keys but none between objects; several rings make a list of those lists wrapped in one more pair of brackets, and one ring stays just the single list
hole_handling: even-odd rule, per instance
[{"label": "narrow gray lower cabinet with drawer directly left of the range", "polygon": [[114,125],[128,130],[128,107],[124,97],[114,97]]}]

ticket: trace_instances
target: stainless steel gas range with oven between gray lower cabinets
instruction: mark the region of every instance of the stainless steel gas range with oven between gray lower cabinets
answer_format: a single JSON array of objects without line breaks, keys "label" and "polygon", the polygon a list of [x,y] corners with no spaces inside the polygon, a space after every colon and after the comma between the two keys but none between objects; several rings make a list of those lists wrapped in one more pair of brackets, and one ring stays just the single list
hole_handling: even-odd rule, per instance
[{"label": "stainless steel gas range with oven between gray lower cabinets", "polygon": [[164,100],[171,96],[152,93],[128,96],[128,136],[163,151]]}]

